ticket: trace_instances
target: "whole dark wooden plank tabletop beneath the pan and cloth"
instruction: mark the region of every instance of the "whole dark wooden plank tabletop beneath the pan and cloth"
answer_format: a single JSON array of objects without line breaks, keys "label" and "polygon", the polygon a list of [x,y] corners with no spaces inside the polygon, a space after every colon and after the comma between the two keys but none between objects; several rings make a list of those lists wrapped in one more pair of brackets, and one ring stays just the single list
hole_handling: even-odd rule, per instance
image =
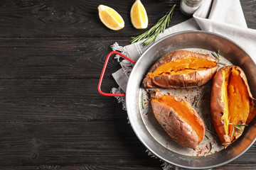
[{"label": "whole dark wooden plank tabletop beneath the pan and cloth", "polygon": [[[97,91],[110,45],[128,45],[134,1],[0,1],[0,169],[161,169],[127,124],[116,98]],[[177,4],[170,26],[189,17],[179,1],[142,1],[149,27]],[[112,31],[98,17],[105,4],[123,16]],[[256,29],[256,1],[242,0]],[[117,87],[111,59],[102,91]],[[218,169],[256,169],[256,145]]]}]

